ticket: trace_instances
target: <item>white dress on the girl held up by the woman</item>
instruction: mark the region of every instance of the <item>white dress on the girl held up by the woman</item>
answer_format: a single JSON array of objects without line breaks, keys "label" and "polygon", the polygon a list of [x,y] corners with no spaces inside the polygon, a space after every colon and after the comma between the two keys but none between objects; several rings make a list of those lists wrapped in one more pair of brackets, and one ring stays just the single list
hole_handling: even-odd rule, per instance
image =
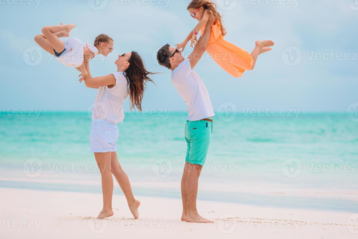
[{"label": "white dress on the girl held up by the woman", "polygon": [[[82,42],[74,37],[64,41],[65,46],[68,45],[72,50],[61,56],[55,58],[65,66],[69,67],[80,67],[83,63],[83,45]],[[95,46],[88,45],[88,48],[92,51],[92,54],[97,54],[98,50]],[[69,50],[69,49],[68,49]]]}]

